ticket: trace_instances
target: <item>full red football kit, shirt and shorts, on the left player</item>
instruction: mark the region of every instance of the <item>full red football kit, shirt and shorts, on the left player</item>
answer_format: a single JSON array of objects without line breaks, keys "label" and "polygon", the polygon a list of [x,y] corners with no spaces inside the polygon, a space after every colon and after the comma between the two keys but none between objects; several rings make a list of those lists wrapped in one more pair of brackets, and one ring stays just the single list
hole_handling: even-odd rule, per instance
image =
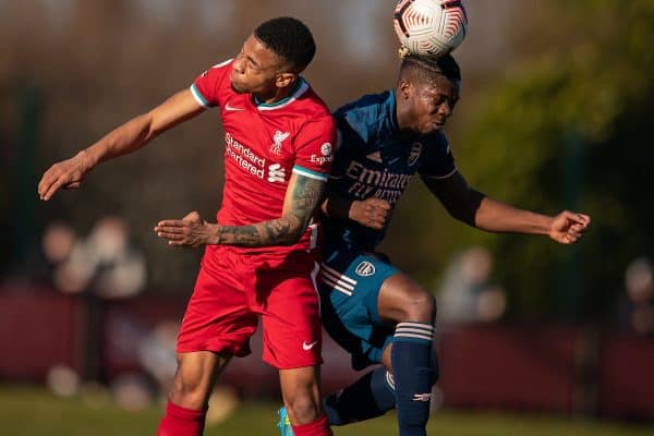
[{"label": "full red football kit, shirt and shorts, on the left player", "polygon": [[[336,125],[300,78],[284,99],[265,105],[230,85],[232,61],[195,80],[199,105],[219,107],[225,130],[225,187],[217,220],[247,226],[280,218],[291,173],[327,181]],[[250,353],[261,317],[263,360],[277,368],[322,363],[319,298],[311,253],[312,222],[291,246],[207,245],[186,307],[178,352]]]}]

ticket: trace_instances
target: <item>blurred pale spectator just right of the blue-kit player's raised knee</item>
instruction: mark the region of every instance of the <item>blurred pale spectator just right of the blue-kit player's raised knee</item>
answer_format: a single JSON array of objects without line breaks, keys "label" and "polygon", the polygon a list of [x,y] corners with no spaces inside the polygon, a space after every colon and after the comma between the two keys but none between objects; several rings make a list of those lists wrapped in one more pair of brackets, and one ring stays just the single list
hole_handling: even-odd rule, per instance
[{"label": "blurred pale spectator just right of the blue-kit player's raised knee", "polygon": [[439,323],[495,322],[506,311],[504,290],[491,280],[493,257],[474,246],[450,261],[438,293]]}]

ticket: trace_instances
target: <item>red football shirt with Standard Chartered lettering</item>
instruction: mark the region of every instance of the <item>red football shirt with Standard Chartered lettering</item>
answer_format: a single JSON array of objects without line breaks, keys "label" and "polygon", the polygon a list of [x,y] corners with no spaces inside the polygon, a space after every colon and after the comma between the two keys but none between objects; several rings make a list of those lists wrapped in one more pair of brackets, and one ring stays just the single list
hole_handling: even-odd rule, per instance
[{"label": "red football shirt with Standard Chartered lettering", "polygon": [[[288,97],[266,105],[252,94],[233,90],[231,71],[232,60],[210,68],[195,80],[191,92],[203,107],[220,108],[225,187],[218,222],[244,226],[281,217],[291,172],[327,181],[336,128],[325,102],[303,78]],[[299,244],[274,251],[310,249],[315,226],[307,228]]]}]

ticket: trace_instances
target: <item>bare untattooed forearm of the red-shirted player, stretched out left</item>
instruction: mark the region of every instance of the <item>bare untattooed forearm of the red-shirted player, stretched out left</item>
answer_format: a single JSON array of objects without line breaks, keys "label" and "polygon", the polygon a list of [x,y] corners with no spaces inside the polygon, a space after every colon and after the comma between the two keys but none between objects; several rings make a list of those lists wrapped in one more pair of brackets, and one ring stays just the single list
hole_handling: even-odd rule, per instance
[{"label": "bare untattooed forearm of the red-shirted player, stretched out left", "polygon": [[137,150],[155,136],[156,133],[152,129],[152,117],[146,113],[112,130],[82,154],[90,169],[105,160]]}]

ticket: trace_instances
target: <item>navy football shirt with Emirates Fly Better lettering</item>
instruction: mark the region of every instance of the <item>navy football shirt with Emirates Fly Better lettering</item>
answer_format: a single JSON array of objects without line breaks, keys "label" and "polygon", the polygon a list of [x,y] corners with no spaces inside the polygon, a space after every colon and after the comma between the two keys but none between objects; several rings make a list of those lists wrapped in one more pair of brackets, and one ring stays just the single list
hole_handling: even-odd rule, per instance
[{"label": "navy football shirt with Emirates Fly Better lettering", "polygon": [[[414,173],[445,178],[456,170],[445,134],[400,134],[395,107],[395,93],[387,90],[366,95],[334,113],[339,140],[328,194],[349,199],[374,196],[395,208]],[[364,252],[374,252],[386,234],[386,229],[329,219],[325,229],[328,243],[342,241]]]}]

